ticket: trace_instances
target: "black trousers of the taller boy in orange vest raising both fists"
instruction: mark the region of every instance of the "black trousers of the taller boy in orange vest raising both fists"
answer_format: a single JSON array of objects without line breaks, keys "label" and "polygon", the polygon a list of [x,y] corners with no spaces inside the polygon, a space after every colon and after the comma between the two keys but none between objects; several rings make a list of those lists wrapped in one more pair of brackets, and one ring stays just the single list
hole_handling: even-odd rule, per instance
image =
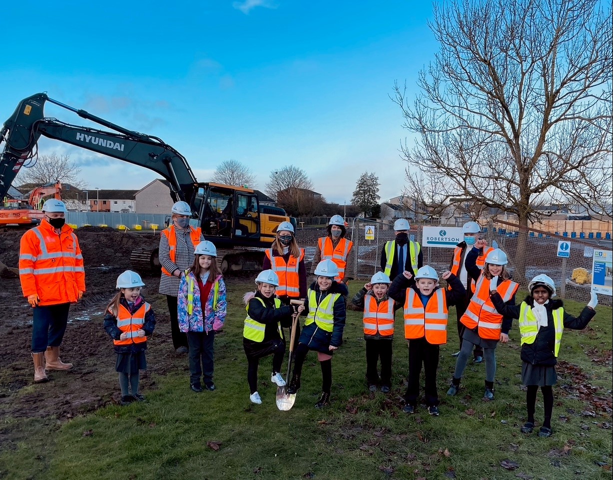
[{"label": "black trousers of the taller boy in orange vest raising both fists", "polygon": [[438,354],[439,346],[428,343],[425,338],[409,340],[409,384],[405,393],[405,401],[408,405],[417,405],[422,365],[425,375],[425,404],[427,406],[438,405],[438,392],[436,391]]}]

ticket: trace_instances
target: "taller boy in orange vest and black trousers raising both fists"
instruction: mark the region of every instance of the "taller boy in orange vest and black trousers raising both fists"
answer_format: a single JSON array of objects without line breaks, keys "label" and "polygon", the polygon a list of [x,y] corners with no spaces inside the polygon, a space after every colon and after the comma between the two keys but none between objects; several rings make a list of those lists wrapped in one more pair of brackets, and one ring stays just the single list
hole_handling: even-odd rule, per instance
[{"label": "taller boy in orange vest and black trousers raising both fists", "polygon": [[413,414],[419,398],[419,376],[422,364],[425,376],[425,404],[430,415],[438,416],[438,390],[436,370],[440,346],[447,343],[447,314],[449,306],[461,302],[466,295],[462,282],[449,270],[441,276],[451,286],[445,290],[438,286],[438,273],[428,265],[413,275],[404,271],[389,289],[389,295],[403,304],[405,338],[409,344],[409,378],[405,393],[405,413]]}]

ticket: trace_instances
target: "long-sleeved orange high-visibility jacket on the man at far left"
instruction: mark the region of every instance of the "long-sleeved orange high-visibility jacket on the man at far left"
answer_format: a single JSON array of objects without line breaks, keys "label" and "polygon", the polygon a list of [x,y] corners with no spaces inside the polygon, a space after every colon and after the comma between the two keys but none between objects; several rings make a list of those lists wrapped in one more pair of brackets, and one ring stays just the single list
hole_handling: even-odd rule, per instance
[{"label": "long-sleeved orange high-visibility jacket on the man at far left", "polygon": [[85,292],[83,255],[72,228],[59,233],[42,220],[21,237],[19,277],[24,296],[38,295],[39,305],[75,302]]}]

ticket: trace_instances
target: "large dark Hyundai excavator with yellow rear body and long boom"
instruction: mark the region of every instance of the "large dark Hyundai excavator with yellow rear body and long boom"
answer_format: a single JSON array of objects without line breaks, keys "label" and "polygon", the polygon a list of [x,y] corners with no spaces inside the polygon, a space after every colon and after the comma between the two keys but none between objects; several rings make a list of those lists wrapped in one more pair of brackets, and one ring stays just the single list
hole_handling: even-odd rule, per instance
[{"label": "large dark Hyundai excavator with yellow rear body and long boom", "polygon": [[[45,117],[47,102],[113,131]],[[250,188],[198,182],[185,157],[159,137],[128,130],[51,99],[46,93],[23,99],[0,130],[0,147],[4,142],[0,198],[4,198],[24,163],[36,155],[41,135],[143,166],[164,177],[173,201],[183,200],[191,206],[192,225],[200,226],[205,239],[218,247],[217,259],[224,272],[261,268],[263,249],[275,239],[276,227],[294,220],[283,209],[260,206],[257,193]],[[159,271],[158,250],[135,249],[131,263],[138,271]]]}]

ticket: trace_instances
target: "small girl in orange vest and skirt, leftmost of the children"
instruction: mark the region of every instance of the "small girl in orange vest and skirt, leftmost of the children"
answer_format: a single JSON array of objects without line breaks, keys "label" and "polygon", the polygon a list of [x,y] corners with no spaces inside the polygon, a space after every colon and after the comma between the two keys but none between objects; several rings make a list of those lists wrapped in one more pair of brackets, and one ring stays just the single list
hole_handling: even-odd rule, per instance
[{"label": "small girl in orange vest and skirt, leftmost of the children", "polygon": [[[140,275],[126,270],[117,277],[119,292],[107,305],[104,330],[113,339],[121,389],[120,405],[143,401],[139,393],[139,370],[147,370],[147,337],[155,328],[155,314],[151,305],[140,295],[145,284]],[[131,390],[131,392],[130,392]]]}]

